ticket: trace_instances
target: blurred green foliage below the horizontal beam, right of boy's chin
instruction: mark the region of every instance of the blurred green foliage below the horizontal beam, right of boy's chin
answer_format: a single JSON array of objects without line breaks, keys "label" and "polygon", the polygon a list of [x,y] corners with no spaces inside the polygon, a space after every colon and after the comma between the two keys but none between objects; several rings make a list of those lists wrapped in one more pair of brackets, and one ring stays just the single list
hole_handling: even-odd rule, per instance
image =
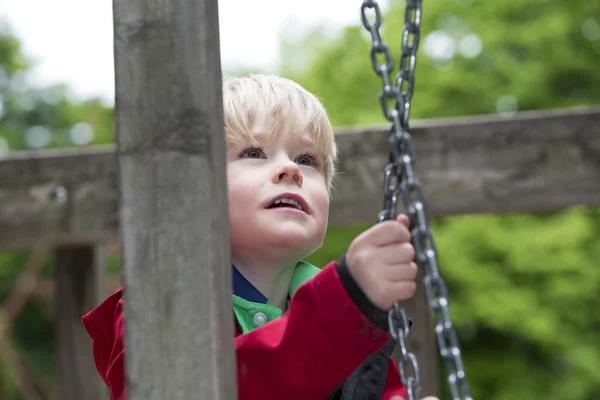
[{"label": "blurred green foliage below the horizontal beam, right of boy's chin", "polygon": [[[331,228],[308,261],[339,259],[365,228]],[[455,217],[432,229],[475,397],[594,398],[600,209]]]}]

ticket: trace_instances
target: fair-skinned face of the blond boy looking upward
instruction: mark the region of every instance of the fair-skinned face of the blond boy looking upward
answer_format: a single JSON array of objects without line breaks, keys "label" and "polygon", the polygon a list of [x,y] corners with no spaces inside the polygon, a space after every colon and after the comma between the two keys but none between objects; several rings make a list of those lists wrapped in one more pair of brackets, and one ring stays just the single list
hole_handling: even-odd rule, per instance
[{"label": "fair-skinned face of the blond boy looking upward", "polygon": [[[271,251],[298,261],[317,250],[325,237],[329,194],[319,155],[308,132],[277,132],[268,140],[268,126],[257,115],[252,129],[260,146],[227,148],[229,225],[234,259]],[[273,207],[280,197],[301,204]],[[248,260],[246,260],[248,262]]]}]

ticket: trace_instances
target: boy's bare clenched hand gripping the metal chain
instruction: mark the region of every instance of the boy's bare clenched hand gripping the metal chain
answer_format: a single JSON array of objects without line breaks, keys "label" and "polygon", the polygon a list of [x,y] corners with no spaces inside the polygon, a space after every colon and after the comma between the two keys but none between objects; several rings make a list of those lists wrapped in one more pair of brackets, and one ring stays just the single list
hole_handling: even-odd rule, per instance
[{"label": "boy's bare clenched hand gripping the metal chain", "polygon": [[346,254],[350,274],[369,300],[384,311],[412,297],[417,288],[409,225],[405,214],[378,223],[357,236]]}]

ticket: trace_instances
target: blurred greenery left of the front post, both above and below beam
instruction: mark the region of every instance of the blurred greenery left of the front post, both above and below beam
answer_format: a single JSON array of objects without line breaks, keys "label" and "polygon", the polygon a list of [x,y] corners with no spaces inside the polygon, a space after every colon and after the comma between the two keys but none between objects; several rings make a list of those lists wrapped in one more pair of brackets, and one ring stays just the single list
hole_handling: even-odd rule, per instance
[{"label": "blurred greenery left of the front post, both above and below beam", "polygon": [[[114,141],[111,108],[98,99],[72,101],[64,85],[32,87],[27,80],[30,68],[19,40],[0,21],[0,158],[16,150]],[[14,287],[27,257],[27,252],[0,253],[0,306]],[[53,276],[51,260],[43,274]],[[54,378],[54,328],[48,314],[51,310],[29,302],[9,333],[13,343]],[[12,378],[0,359],[0,398],[19,399]]]}]

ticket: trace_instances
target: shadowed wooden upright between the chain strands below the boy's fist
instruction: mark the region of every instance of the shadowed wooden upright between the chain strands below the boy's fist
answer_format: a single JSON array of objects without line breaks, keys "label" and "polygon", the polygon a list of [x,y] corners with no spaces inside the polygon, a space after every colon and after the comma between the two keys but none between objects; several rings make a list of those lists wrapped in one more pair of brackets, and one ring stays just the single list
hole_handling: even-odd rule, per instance
[{"label": "shadowed wooden upright between the chain strands below the boy's fist", "polygon": [[[421,397],[439,397],[440,382],[437,342],[433,331],[431,313],[427,304],[425,285],[423,284],[423,271],[419,271],[417,282],[415,296],[409,301],[402,303],[402,306],[413,320],[407,345],[408,349],[414,353],[419,362]],[[396,346],[394,350],[394,360],[400,360],[400,347]]]}]

